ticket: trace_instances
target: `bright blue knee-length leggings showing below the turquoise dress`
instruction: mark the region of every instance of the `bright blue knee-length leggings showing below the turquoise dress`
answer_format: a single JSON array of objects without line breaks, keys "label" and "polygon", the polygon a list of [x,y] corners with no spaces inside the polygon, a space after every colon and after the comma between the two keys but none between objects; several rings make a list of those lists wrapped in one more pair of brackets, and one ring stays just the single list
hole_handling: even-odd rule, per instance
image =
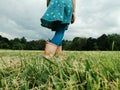
[{"label": "bright blue knee-length leggings showing below the turquoise dress", "polygon": [[65,30],[66,30],[66,25],[60,25],[59,27],[57,27],[55,35],[51,40],[51,43],[57,46],[62,46],[62,39],[63,39]]}]

